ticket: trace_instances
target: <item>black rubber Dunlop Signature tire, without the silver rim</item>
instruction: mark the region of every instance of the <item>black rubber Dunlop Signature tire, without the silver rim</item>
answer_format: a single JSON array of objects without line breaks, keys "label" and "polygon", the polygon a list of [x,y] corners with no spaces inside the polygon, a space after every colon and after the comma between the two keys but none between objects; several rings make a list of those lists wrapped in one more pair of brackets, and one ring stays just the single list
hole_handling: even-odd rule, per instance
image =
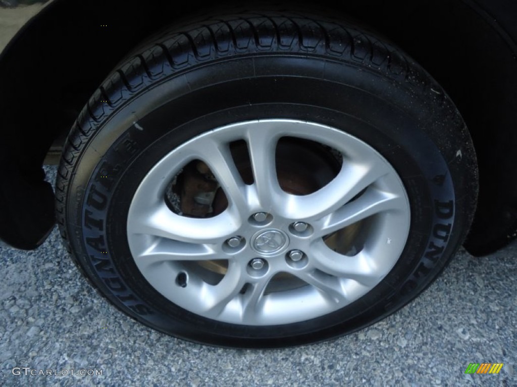
[{"label": "black rubber Dunlop Signature tire, without the silver rim", "polygon": [[[172,27],[139,51],[84,107],[56,182],[59,228],[74,259],[128,315],[211,345],[322,341],[400,309],[461,245],[477,197],[472,141],[444,90],[393,44],[324,18],[263,13]],[[398,263],[352,304],[297,324],[239,326],[156,292],[131,258],[126,220],[142,176],[164,154],[211,128],[261,118],[314,121],[367,142],[399,173],[411,228]]]}]

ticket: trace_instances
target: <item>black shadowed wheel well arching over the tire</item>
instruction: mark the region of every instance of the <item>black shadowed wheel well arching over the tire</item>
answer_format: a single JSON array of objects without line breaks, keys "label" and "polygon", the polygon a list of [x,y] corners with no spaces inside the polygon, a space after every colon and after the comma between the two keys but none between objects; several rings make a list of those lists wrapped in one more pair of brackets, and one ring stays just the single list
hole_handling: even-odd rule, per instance
[{"label": "black shadowed wheel well arching over the tire", "polygon": [[[420,62],[457,104],[474,140],[481,187],[466,246],[477,254],[500,247],[517,225],[517,50],[511,39],[517,31],[506,26],[510,30],[505,32],[493,15],[516,15],[517,7],[505,9],[510,6],[504,0],[479,1],[481,6],[471,0],[342,3],[336,9],[324,0],[315,12],[331,10],[334,17],[343,14],[376,29]],[[259,8],[236,0],[225,6]],[[200,12],[212,11],[168,0],[54,0],[0,58],[0,84],[9,90],[0,94],[7,165],[16,165],[14,173],[26,179],[39,179],[35,170],[52,141],[68,132],[117,62],[143,38]]]}]

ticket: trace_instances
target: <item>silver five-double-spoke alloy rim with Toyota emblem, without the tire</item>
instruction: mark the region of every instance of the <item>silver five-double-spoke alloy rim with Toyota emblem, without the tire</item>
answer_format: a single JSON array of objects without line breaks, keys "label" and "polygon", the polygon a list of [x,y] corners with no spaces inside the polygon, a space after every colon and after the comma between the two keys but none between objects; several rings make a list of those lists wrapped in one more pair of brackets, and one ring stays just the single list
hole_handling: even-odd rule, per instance
[{"label": "silver five-double-spoke alloy rim with Toyota emblem, without the tire", "polygon": [[[309,195],[284,191],[275,162],[283,137],[338,151],[342,164],[335,178]],[[232,158],[229,144],[236,140],[247,143],[251,185]],[[210,168],[228,200],[214,217],[181,216],[165,203],[168,184],[192,160]],[[267,219],[253,221],[254,214]],[[345,255],[328,246],[328,235],[365,219],[359,251]],[[304,231],[295,229],[297,222],[307,225]],[[409,225],[404,186],[372,147],[326,125],[275,119],[219,127],[165,155],[135,192],[127,234],[136,265],[164,297],[206,318],[264,326],[322,316],[368,293],[398,261]],[[233,247],[232,238],[240,238]],[[263,265],[254,261],[252,266],[255,259]],[[216,260],[227,262],[217,284],[189,269],[189,262]],[[305,286],[268,292],[279,273]]]}]

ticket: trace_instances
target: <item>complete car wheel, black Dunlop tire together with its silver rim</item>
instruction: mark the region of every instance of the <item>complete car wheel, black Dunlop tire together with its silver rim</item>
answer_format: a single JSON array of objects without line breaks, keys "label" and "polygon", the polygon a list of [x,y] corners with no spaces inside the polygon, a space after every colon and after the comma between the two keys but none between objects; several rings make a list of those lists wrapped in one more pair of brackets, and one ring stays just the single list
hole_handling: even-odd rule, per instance
[{"label": "complete car wheel, black Dunlop tire together with its silver rim", "polygon": [[210,345],[323,341],[403,307],[461,245],[472,141],[385,39],[264,13],[141,47],[81,112],[56,182],[74,260],[131,317]]}]

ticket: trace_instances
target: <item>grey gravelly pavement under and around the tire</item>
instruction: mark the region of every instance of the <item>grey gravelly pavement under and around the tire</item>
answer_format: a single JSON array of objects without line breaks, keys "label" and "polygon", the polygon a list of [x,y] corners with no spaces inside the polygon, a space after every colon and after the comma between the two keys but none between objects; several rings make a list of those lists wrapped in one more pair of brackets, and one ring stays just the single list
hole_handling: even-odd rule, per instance
[{"label": "grey gravelly pavement under and around the tire", "polygon": [[[55,167],[45,168],[53,181]],[[54,230],[36,251],[0,249],[0,385],[514,386],[515,257],[517,243],[483,259],[461,251],[416,301],[332,342],[234,350],[176,340],[119,312],[80,275]],[[464,373],[483,362],[504,366],[498,375]],[[13,375],[13,367],[75,371]]]}]

